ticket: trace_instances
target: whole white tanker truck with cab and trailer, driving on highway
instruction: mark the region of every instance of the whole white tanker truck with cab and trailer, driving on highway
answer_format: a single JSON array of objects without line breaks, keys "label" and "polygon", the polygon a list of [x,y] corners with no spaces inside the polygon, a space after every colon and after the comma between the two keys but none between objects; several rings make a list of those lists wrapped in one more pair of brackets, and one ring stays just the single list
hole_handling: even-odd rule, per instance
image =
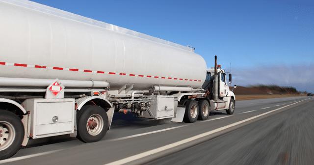
[{"label": "whole white tanker truck with cab and trailer, driving on highway", "polygon": [[[29,139],[101,140],[114,114],[172,122],[235,109],[194,48],[28,0],[0,0],[0,160]],[[229,74],[231,83],[231,74]]]}]

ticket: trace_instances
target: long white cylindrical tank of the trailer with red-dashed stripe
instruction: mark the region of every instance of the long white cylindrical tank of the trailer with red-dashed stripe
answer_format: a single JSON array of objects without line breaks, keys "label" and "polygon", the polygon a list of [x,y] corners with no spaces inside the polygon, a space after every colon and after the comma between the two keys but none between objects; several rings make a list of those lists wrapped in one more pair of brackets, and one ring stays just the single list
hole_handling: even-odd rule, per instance
[{"label": "long white cylindrical tank of the trailer with red-dashed stripe", "polygon": [[0,0],[0,77],[199,88],[192,48],[27,0]]}]

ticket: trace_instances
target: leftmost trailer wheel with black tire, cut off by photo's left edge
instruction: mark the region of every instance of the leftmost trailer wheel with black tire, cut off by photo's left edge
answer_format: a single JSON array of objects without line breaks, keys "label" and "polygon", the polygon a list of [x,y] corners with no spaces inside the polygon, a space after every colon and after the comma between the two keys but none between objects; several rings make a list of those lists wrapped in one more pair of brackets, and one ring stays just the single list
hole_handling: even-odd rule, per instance
[{"label": "leftmost trailer wheel with black tire, cut off by photo's left edge", "polygon": [[7,110],[0,110],[0,160],[16,154],[24,139],[24,126],[21,119]]}]

